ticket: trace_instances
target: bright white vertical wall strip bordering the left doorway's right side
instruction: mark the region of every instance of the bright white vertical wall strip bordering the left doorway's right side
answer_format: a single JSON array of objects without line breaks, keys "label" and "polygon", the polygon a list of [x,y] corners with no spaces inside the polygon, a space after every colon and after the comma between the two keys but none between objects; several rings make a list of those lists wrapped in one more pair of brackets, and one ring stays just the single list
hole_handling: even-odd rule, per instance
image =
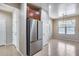
[{"label": "bright white vertical wall strip bordering the left doorway's right side", "polygon": [[19,49],[19,10],[12,13],[12,39],[13,44]]}]

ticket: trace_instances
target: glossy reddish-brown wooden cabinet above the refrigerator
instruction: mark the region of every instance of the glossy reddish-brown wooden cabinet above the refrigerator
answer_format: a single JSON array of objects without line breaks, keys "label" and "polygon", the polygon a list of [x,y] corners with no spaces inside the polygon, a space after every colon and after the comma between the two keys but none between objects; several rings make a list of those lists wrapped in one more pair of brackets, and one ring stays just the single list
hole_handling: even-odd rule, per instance
[{"label": "glossy reddish-brown wooden cabinet above the refrigerator", "polygon": [[27,18],[41,20],[41,8],[28,3],[27,4]]}]

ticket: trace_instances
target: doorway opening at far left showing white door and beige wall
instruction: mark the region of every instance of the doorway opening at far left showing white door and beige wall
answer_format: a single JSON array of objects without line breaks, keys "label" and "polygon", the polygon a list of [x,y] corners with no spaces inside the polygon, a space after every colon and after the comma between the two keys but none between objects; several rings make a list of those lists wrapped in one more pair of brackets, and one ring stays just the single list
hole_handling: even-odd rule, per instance
[{"label": "doorway opening at far left showing white door and beige wall", "polygon": [[12,15],[0,10],[0,45],[12,43]]}]

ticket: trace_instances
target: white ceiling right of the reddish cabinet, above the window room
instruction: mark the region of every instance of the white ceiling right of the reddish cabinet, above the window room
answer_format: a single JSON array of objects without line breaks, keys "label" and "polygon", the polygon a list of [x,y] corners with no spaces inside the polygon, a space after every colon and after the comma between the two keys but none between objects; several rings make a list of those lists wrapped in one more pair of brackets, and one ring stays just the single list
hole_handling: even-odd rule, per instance
[{"label": "white ceiling right of the reddish cabinet, above the window room", "polygon": [[[51,18],[58,18],[59,10],[60,12],[66,13],[65,10],[75,8],[75,15],[79,14],[79,4],[78,3],[34,3],[36,6],[41,7],[42,9],[49,12]],[[50,8],[49,8],[50,6]],[[50,10],[50,11],[49,11]],[[71,11],[70,11],[71,12]]]}]

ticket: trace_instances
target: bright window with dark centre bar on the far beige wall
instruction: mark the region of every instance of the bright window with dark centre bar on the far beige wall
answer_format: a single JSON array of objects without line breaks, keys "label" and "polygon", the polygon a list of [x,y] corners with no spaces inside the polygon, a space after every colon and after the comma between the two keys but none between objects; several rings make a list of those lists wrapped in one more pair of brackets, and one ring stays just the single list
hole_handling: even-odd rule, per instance
[{"label": "bright window with dark centre bar on the far beige wall", "polygon": [[75,20],[58,21],[59,34],[75,34]]}]

